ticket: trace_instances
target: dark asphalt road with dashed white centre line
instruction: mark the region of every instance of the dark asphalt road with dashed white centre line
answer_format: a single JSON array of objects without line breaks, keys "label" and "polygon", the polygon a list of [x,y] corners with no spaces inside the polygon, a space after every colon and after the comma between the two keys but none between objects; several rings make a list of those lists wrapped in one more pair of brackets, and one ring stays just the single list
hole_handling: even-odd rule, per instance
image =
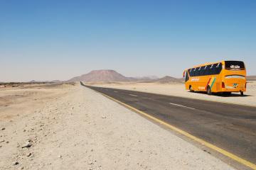
[{"label": "dark asphalt road with dashed white centre line", "polygon": [[87,87],[256,164],[255,107],[138,91]]}]

